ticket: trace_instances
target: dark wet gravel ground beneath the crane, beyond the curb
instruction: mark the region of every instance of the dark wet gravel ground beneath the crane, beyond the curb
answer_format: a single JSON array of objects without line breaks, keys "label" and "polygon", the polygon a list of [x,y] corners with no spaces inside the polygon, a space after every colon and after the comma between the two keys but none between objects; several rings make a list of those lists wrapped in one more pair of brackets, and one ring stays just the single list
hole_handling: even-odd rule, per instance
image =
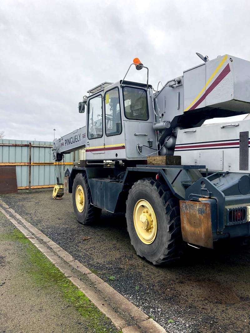
[{"label": "dark wet gravel ground beneath the crane, beyond the curb", "polygon": [[71,194],[53,200],[52,189],[23,190],[1,199],[167,332],[250,332],[249,245],[188,247],[178,263],[157,267],[136,255],[122,214],[103,211],[83,226]]}]

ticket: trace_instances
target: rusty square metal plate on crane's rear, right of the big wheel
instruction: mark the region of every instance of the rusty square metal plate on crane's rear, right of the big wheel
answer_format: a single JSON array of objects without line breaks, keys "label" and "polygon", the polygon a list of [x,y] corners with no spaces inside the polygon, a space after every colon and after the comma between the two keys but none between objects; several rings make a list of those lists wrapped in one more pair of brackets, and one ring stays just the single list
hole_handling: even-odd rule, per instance
[{"label": "rusty square metal plate on crane's rear, right of the big wheel", "polygon": [[213,248],[209,202],[180,201],[181,232],[185,242]]}]

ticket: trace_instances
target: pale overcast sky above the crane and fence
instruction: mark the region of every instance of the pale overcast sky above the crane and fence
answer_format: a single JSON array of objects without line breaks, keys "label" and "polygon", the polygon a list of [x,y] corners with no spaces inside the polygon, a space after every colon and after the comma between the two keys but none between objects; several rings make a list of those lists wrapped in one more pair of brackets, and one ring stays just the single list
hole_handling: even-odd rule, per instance
[{"label": "pale overcast sky above the crane and fence", "polygon": [[1,0],[0,131],[51,141],[54,128],[84,126],[83,95],[122,79],[134,57],[155,89],[201,63],[195,52],[250,60],[249,17],[247,0]]}]

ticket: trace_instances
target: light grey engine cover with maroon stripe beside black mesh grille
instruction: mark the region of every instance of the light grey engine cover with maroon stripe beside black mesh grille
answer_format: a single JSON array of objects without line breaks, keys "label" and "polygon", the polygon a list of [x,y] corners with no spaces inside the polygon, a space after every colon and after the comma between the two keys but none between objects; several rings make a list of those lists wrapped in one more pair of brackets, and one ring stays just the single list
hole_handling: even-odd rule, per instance
[{"label": "light grey engine cover with maroon stripe beside black mesh grille", "polygon": [[[245,120],[197,127],[195,132],[180,130],[174,155],[181,155],[182,164],[206,165],[210,171],[248,172],[250,161],[248,170],[239,168],[239,140],[240,132],[248,132],[249,128],[250,120]],[[248,152],[249,148],[248,144]]]}]

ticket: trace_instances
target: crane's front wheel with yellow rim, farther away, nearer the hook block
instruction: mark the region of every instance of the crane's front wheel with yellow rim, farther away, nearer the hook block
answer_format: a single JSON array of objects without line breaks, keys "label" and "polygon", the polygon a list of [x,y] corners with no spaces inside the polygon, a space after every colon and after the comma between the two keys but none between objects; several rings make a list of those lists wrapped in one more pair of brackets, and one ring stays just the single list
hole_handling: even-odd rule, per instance
[{"label": "crane's front wheel with yellow rim, farther away, nearer the hook block", "polygon": [[101,209],[91,204],[91,192],[87,177],[77,173],[72,188],[73,208],[77,221],[82,224],[92,224],[100,217]]}]

